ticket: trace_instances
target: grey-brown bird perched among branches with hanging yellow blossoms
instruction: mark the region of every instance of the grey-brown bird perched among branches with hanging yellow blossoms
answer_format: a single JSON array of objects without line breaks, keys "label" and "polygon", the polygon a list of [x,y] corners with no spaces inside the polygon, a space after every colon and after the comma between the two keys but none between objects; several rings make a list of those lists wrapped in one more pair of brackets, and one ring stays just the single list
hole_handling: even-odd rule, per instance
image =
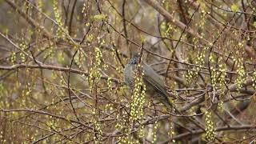
[{"label": "grey-brown bird perched among branches with hanging yellow blossoms", "polygon": [[[124,80],[126,85],[133,90],[134,82],[135,82],[135,74],[134,70],[136,70],[136,66],[138,65],[140,60],[139,54],[134,54],[133,58],[126,64],[124,70]],[[167,110],[171,110],[172,104],[168,98],[168,93],[166,92],[164,80],[146,63],[141,62],[142,71],[144,75],[142,75],[143,82],[146,85],[146,95],[157,99],[159,102],[162,102]]]}]

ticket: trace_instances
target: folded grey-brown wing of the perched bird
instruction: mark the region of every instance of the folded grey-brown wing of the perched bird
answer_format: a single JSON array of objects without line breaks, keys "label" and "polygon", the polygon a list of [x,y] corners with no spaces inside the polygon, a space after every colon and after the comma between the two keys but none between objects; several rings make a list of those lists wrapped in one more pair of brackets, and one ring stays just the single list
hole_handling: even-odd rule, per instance
[{"label": "folded grey-brown wing of the perched bird", "polygon": [[161,94],[168,97],[169,94],[167,94],[166,92],[164,80],[161,79],[160,76],[150,66],[146,64],[143,65],[143,70],[144,70],[144,76],[143,76],[144,81],[149,82]]}]

